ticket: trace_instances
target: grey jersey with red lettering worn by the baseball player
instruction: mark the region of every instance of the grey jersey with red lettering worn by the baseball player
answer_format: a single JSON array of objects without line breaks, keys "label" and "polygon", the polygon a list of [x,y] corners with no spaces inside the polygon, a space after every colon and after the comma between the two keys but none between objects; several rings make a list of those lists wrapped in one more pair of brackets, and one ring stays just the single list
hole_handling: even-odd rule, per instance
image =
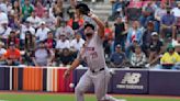
[{"label": "grey jersey with red lettering worn by the baseball player", "polygon": [[90,70],[99,70],[105,68],[105,58],[103,49],[103,41],[98,34],[93,34],[92,38],[87,42],[83,50],[78,55],[79,60],[85,60]]}]

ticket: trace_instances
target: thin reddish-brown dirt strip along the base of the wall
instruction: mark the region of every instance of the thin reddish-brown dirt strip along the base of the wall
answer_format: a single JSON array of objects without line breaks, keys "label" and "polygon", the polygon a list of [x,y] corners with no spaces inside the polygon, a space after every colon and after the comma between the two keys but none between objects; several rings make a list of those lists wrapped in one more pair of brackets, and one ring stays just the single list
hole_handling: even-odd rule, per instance
[{"label": "thin reddish-brown dirt strip along the base of the wall", "polygon": [[[0,91],[0,94],[74,94],[70,93],[63,93],[63,92],[29,92],[29,91]],[[93,93],[87,93],[88,96],[94,96]],[[139,97],[139,98],[165,98],[165,99],[180,99],[178,96],[149,96],[149,94],[112,94],[115,97]]]}]

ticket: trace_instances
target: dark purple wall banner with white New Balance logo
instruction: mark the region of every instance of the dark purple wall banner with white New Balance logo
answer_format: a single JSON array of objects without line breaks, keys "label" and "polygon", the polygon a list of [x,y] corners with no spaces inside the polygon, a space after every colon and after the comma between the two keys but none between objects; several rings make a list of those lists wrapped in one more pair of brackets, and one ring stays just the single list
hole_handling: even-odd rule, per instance
[{"label": "dark purple wall banner with white New Balance logo", "polygon": [[112,86],[114,93],[148,93],[148,71],[116,70]]}]

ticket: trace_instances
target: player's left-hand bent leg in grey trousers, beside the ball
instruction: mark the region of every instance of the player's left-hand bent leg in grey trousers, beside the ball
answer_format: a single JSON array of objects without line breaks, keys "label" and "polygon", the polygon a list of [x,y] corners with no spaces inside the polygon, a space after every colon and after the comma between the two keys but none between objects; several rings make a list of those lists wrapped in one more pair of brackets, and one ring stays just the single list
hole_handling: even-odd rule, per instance
[{"label": "player's left-hand bent leg in grey trousers, beside the ball", "polygon": [[77,87],[75,88],[75,94],[77,101],[85,101],[83,93],[92,86],[92,80],[88,76],[88,71],[80,78]]}]

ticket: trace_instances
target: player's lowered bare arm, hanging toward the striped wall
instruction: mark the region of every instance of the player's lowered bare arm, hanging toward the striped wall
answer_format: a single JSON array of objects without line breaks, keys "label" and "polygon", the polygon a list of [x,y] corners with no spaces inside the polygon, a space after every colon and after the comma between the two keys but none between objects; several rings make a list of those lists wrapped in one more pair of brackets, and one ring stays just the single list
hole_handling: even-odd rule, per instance
[{"label": "player's lowered bare arm, hanging toward the striped wall", "polygon": [[70,72],[71,72],[74,69],[76,69],[76,68],[79,66],[79,64],[80,64],[80,60],[79,60],[78,58],[75,59],[75,60],[72,61],[70,68],[68,68],[68,69],[65,71],[64,78],[67,79],[67,78],[69,77]]}]

